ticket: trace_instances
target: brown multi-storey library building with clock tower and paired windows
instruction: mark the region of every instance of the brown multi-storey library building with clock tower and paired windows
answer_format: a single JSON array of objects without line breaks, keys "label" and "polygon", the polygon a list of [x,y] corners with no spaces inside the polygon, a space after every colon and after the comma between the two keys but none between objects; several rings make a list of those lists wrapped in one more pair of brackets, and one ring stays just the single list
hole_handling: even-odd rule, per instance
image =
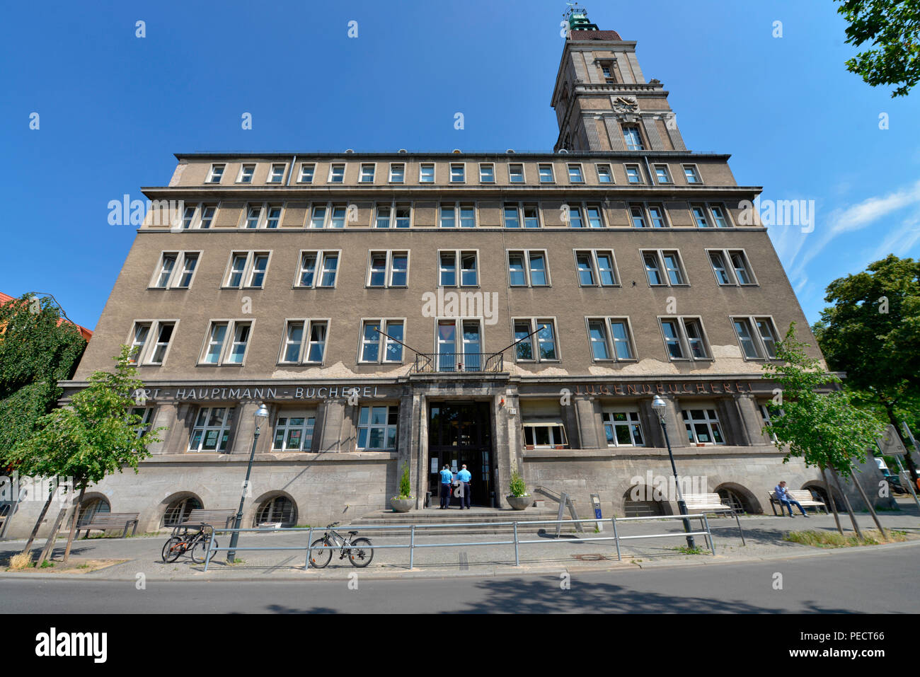
[{"label": "brown multi-storey library building with clock tower and paired windows", "polygon": [[259,403],[247,525],[383,510],[404,465],[418,508],[466,464],[479,505],[506,507],[517,470],[605,514],[668,511],[637,491],[670,475],[653,396],[695,487],[753,512],[781,478],[821,487],[764,432],[776,340],[816,342],[745,210],[761,189],[686,148],[635,42],[571,27],[551,153],[186,154],[144,188],[65,393],[132,345],[166,430],[96,509],[152,530],[236,508]]}]

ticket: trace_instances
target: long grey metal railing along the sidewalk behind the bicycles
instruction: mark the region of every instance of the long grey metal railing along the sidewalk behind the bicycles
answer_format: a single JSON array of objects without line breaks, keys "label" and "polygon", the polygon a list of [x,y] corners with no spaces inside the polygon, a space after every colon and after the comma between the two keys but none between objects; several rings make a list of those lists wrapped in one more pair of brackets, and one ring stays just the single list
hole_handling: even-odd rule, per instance
[{"label": "long grey metal railing along the sidewalk behind the bicycles", "polygon": [[[667,532],[664,534],[633,534],[633,535],[620,535],[619,530],[617,529],[617,524],[631,523],[631,522],[650,522],[654,520],[699,520],[700,529],[699,531],[680,531],[680,532]],[[598,519],[581,519],[581,520],[517,520],[514,522],[462,522],[458,524],[446,523],[446,524],[381,524],[381,525],[351,525],[337,527],[335,529],[338,533],[345,533],[348,531],[388,531],[388,530],[400,530],[408,531],[409,539],[408,543],[399,543],[391,545],[372,545],[372,550],[383,550],[388,548],[408,548],[408,568],[412,569],[415,566],[415,550],[416,548],[422,547],[473,547],[477,545],[513,545],[514,546],[514,566],[521,566],[521,545],[539,545],[539,544],[548,544],[548,543],[558,543],[556,538],[540,538],[540,539],[530,539],[530,540],[521,540],[518,537],[518,528],[523,525],[533,525],[533,524],[568,524],[574,522],[581,522],[584,524],[596,524],[600,528],[600,524],[604,522],[611,522],[614,534],[612,536],[578,536],[573,539],[573,542],[586,542],[586,541],[614,541],[616,545],[616,559],[621,561],[623,559],[620,552],[620,542],[621,541],[630,541],[635,539],[645,539],[645,538],[685,538],[686,536],[703,536],[706,539],[707,546],[713,555],[716,554],[716,548],[712,543],[712,533],[709,530],[709,521],[705,514],[694,514],[694,515],[660,515],[655,517],[610,517],[603,520]],[[454,528],[454,527],[499,527],[499,526],[511,526],[513,540],[511,541],[473,541],[473,542],[464,542],[464,543],[416,543],[415,536],[417,532],[424,533],[425,529],[444,529],[444,528]],[[204,559],[204,570],[208,570],[208,566],[211,564],[211,559],[213,554],[218,551],[224,550],[234,550],[236,552],[243,551],[259,551],[259,550],[305,550],[306,558],[304,563],[304,568],[310,568],[310,556],[313,554],[314,550],[341,550],[341,545],[323,545],[320,547],[314,547],[311,545],[313,543],[313,534],[315,533],[327,533],[329,528],[320,528],[320,527],[287,527],[287,528],[278,528],[278,529],[214,529],[214,534],[233,534],[233,533],[243,533],[243,532],[256,532],[259,534],[277,534],[277,533],[291,533],[291,532],[307,532],[307,545],[268,545],[268,546],[241,546],[236,545],[236,547],[231,548],[230,546],[226,547],[214,547],[214,538],[208,542],[208,552],[205,555]],[[569,534],[566,534],[569,535]]]}]

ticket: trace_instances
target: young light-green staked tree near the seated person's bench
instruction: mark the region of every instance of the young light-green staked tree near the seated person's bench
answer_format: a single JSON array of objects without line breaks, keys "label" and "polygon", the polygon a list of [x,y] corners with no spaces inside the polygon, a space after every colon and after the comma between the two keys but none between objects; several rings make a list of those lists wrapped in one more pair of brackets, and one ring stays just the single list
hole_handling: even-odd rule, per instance
[{"label": "young light-green staked tree near the seated person's bench", "polygon": [[[788,448],[783,463],[793,456],[800,457],[806,466],[820,467],[825,481],[826,470],[830,470],[839,484],[837,474],[845,478],[853,474],[854,461],[866,460],[866,450],[878,439],[884,425],[871,412],[854,407],[844,390],[818,392],[828,384],[839,384],[840,379],[824,371],[820,361],[805,354],[808,344],[796,339],[795,327],[795,322],[789,325],[786,337],[776,344],[776,362],[764,365],[765,378],[781,386],[779,402],[774,400],[767,405],[771,414],[770,432],[778,448]],[[853,483],[880,532],[885,534],[874,505],[855,477]],[[827,485],[830,489],[830,482]],[[849,500],[843,491],[841,494],[853,528],[861,537]],[[837,529],[843,534],[833,490],[828,491],[828,499]]]}]

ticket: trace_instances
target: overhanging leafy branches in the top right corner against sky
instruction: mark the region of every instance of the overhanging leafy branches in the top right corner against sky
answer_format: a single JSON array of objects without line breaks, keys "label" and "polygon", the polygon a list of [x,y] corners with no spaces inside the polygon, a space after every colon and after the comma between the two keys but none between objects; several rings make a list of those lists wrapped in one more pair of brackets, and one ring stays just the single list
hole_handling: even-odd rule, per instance
[{"label": "overhanging leafy branches in the top right corner against sky", "polygon": [[891,98],[907,95],[920,80],[920,0],[838,0],[849,22],[846,42],[874,49],[847,60],[846,70],[870,86],[899,85]]}]

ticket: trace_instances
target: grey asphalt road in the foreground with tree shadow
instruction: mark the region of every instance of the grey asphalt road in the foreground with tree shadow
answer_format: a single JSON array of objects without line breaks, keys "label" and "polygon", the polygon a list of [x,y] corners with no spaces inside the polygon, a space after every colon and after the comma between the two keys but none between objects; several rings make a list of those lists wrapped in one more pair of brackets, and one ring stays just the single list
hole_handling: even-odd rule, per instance
[{"label": "grey asphalt road in the foreground with tree shadow", "polygon": [[[0,579],[4,614],[912,613],[917,547],[563,576],[214,582]],[[560,574],[562,569],[560,568]],[[781,589],[776,589],[780,574]]]}]

